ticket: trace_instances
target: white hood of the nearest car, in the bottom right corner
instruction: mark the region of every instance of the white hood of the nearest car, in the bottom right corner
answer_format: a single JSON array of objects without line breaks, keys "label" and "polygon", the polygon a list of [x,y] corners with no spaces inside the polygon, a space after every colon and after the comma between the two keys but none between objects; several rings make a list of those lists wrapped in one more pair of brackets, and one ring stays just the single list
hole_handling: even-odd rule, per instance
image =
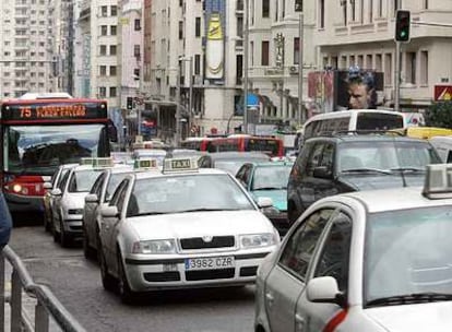
[{"label": "white hood of the nearest car, in the bottom right corner", "polygon": [[452,301],[388,306],[366,309],[366,315],[384,331],[450,331]]}]

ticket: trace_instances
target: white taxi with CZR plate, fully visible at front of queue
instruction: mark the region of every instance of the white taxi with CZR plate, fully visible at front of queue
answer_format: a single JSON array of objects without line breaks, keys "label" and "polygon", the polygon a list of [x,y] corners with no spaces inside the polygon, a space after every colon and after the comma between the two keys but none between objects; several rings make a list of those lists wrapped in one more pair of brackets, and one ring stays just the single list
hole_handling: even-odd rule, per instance
[{"label": "white taxi with CZR plate, fully visible at front of queue", "polygon": [[[163,171],[129,175],[100,210],[104,287],[135,293],[254,283],[279,244],[273,227],[228,173],[166,159]],[[262,206],[271,205],[261,199]]]}]

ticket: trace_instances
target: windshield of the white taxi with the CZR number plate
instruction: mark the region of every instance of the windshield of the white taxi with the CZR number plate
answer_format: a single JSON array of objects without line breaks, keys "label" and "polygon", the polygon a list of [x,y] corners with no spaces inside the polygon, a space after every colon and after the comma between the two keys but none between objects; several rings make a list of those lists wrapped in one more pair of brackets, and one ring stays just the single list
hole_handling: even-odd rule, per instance
[{"label": "windshield of the white taxi with the CZR number plate", "polygon": [[127,215],[224,210],[254,206],[228,175],[187,175],[136,180]]}]

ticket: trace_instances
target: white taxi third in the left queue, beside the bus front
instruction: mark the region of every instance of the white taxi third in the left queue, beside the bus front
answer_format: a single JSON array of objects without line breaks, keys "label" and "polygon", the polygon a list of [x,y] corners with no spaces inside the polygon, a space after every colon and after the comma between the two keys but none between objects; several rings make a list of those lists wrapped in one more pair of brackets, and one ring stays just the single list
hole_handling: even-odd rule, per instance
[{"label": "white taxi third in the left queue, beside the bus front", "polygon": [[[104,159],[109,164],[93,165],[94,161],[104,162]],[[100,171],[111,166],[112,159],[109,158],[82,158],[81,165],[70,168],[61,179],[60,186],[51,190],[53,240],[59,241],[62,247],[68,247],[73,239],[83,236],[82,218],[85,195]]]}]

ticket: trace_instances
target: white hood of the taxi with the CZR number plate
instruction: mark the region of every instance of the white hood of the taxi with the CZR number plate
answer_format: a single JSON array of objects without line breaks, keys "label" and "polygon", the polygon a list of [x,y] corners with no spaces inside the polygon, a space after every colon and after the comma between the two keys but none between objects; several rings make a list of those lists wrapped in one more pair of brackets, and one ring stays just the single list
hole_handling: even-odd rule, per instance
[{"label": "white hood of the taxi with the CZR number plate", "polygon": [[272,223],[255,210],[158,214],[129,221],[143,240],[274,233]]}]

